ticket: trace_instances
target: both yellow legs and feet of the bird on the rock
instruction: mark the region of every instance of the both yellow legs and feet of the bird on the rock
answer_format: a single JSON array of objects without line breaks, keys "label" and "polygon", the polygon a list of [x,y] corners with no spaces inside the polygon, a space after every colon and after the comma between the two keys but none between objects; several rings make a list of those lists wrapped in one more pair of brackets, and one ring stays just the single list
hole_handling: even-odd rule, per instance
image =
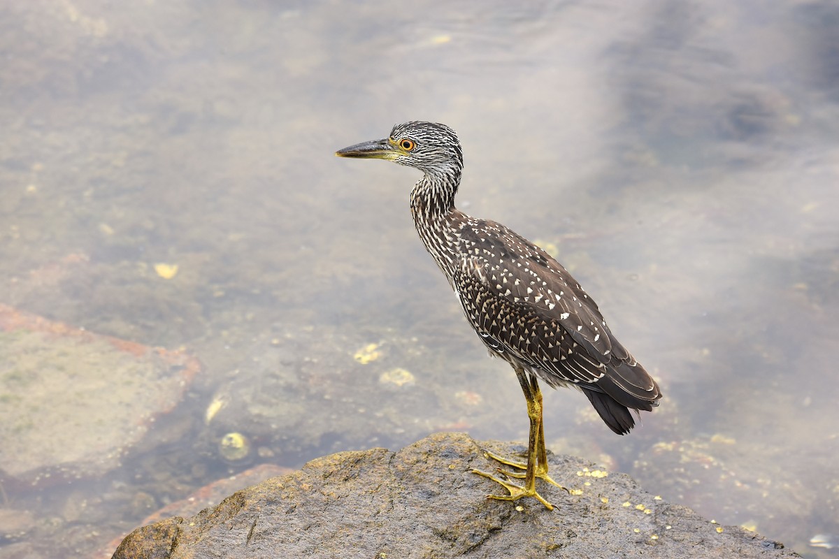
[{"label": "both yellow legs and feet of the bird on the rock", "polygon": [[513,474],[512,472],[499,469],[499,471],[506,476],[523,478],[524,487],[511,484],[508,481],[499,479],[498,477],[492,474],[487,474],[486,472],[479,470],[472,470],[472,472],[482,475],[487,479],[492,479],[492,481],[501,484],[504,489],[507,489],[509,492],[508,495],[488,495],[491,499],[517,500],[522,497],[534,497],[534,499],[538,499],[542,505],[545,505],[546,508],[553,510],[553,505],[543,499],[542,496],[536,492],[537,477],[545,479],[557,487],[562,487],[553,479],[550,479],[550,476],[548,475],[548,461],[545,453],[544,441],[545,435],[542,427],[542,393],[539,391],[539,383],[535,377],[525,373],[523,368],[516,367],[516,376],[519,378],[519,384],[522,387],[522,391],[524,391],[524,398],[527,400],[527,411],[530,419],[527,463],[513,462],[512,460],[501,458],[497,454],[490,453],[488,451],[485,452],[489,458],[497,460],[500,463],[507,464],[513,468],[524,469],[524,474]]}]

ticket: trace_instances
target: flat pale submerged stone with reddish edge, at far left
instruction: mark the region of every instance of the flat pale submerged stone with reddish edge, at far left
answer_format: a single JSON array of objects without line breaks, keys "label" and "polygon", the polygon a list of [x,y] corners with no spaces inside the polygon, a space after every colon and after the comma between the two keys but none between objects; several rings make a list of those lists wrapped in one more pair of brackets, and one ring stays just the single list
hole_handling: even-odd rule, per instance
[{"label": "flat pale submerged stone with reddish edge, at far left", "polygon": [[171,411],[201,365],[0,305],[0,483],[93,478]]}]

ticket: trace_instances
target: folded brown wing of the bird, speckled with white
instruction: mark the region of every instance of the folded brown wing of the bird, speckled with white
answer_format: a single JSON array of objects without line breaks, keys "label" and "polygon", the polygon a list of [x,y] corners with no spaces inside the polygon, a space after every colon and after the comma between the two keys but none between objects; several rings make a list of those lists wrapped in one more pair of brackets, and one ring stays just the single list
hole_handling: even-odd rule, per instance
[{"label": "folded brown wing of the bird, speckled with white", "polygon": [[461,243],[465,256],[454,284],[466,317],[493,349],[557,380],[589,385],[618,373],[614,380],[624,390],[649,394],[654,381],[559,262],[489,220],[465,225]]}]

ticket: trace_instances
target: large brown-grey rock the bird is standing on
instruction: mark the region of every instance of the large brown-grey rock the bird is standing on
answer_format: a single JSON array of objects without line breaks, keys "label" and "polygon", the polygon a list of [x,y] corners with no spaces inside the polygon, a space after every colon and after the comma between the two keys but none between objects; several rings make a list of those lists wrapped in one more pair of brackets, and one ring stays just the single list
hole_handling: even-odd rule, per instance
[{"label": "large brown-grey rock the bird is standing on", "polygon": [[396,453],[332,454],[189,519],[139,528],[113,559],[798,556],[753,532],[704,520],[581,458],[550,457],[552,476],[572,493],[538,482],[555,510],[534,499],[487,499],[503,489],[470,473],[498,467],[482,448],[505,455],[521,450],[437,433]]}]

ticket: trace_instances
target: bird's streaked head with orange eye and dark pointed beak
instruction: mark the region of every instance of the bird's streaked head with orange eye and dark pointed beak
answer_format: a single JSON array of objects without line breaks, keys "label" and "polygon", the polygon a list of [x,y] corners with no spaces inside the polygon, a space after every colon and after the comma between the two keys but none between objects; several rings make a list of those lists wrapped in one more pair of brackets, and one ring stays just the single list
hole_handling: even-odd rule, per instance
[{"label": "bird's streaked head with orange eye and dark pointed beak", "polygon": [[463,168],[461,142],[455,131],[435,122],[397,124],[389,137],[358,143],[335,154],[341,158],[389,159],[428,175],[460,174]]}]

